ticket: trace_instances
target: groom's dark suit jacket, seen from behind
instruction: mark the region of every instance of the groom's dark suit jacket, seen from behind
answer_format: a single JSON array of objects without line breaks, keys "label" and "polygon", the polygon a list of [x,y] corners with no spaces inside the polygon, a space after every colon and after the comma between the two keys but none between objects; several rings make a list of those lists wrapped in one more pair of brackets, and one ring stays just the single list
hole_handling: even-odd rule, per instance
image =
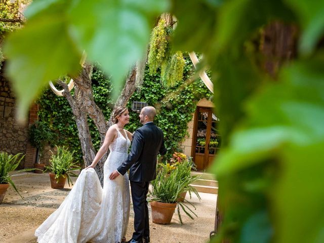
[{"label": "groom's dark suit jacket, seen from behind", "polygon": [[147,182],[156,178],[157,154],[166,154],[163,132],[154,123],[146,123],[137,129],[132,142],[131,152],[117,171],[124,175],[130,170],[129,179]]}]

